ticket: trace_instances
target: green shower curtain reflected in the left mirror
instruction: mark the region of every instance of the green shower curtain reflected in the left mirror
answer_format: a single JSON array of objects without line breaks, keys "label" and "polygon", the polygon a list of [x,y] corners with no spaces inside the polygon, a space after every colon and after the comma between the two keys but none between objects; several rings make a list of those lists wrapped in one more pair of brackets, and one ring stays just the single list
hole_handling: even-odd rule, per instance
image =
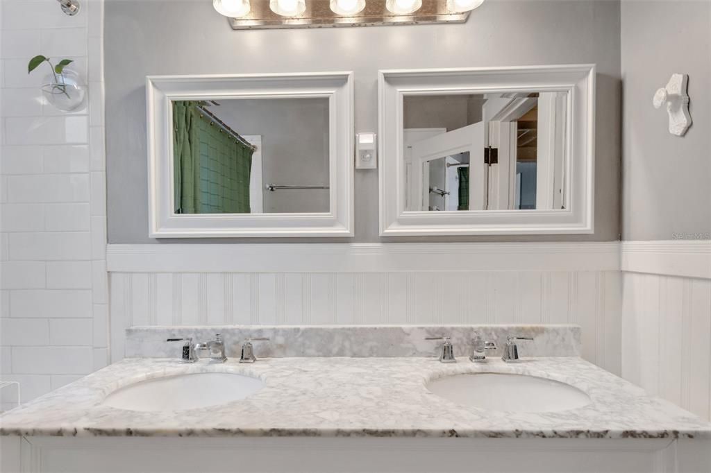
[{"label": "green shower curtain reflected in the left mirror", "polygon": [[253,149],[198,109],[173,102],[176,214],[250,213]]}]

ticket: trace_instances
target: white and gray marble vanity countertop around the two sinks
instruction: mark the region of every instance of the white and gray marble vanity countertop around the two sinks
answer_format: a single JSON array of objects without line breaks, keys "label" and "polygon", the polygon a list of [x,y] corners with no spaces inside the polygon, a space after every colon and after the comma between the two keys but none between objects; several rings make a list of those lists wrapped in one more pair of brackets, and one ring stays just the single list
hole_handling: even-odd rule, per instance
[{"label": "white and gray marble vanity countertop around the two sinks", "polygon": [[[264,380],[242,401],[190,411],[102,406],[128,384],[183,373],[247,374]],[[528,374],[586,392],[592,403],[553,413],[484,411],[431,393],[427,381],[475,372]],[[525,393],[521,393],[525,396]],[[506,364],[432,358],[274,358],[252,365],[124,359],[0,416],[1,435],[711,438],[711,424],[578,357]]]}]

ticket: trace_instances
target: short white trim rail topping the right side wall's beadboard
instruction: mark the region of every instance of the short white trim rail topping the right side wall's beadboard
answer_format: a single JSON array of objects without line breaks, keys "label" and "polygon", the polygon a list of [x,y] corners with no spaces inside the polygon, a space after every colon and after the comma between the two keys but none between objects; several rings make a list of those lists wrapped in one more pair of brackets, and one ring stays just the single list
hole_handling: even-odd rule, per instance
[{"label": "short white trim rail topping the right side wall's beadboard", "polygon": [[631,273],[711,278],[711,241],[623,241],[621,269]]}]

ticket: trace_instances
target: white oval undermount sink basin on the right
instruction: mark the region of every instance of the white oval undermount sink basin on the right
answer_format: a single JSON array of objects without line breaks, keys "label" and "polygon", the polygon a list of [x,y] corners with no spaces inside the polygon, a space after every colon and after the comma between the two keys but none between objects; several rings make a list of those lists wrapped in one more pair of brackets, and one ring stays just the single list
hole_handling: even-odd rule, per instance
[{"label": "white oval undermount sink basin on the right", "polygon": [[490,411],[569,411],[591,402],[586,393],[569,384],[520,374],[458,374],[434,379],[427,389],[462,406]]}]

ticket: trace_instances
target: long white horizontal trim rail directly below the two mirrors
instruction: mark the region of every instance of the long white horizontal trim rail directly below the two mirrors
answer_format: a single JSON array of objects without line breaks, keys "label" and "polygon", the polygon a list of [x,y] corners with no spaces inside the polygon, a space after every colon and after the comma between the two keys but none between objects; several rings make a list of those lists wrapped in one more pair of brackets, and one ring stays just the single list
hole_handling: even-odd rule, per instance
[{"label": "long white horizontal trim rail directly below the two mirrors", "polygon": [[390,244],[109,244],[114,273],[619,271],[619,241]]}]

